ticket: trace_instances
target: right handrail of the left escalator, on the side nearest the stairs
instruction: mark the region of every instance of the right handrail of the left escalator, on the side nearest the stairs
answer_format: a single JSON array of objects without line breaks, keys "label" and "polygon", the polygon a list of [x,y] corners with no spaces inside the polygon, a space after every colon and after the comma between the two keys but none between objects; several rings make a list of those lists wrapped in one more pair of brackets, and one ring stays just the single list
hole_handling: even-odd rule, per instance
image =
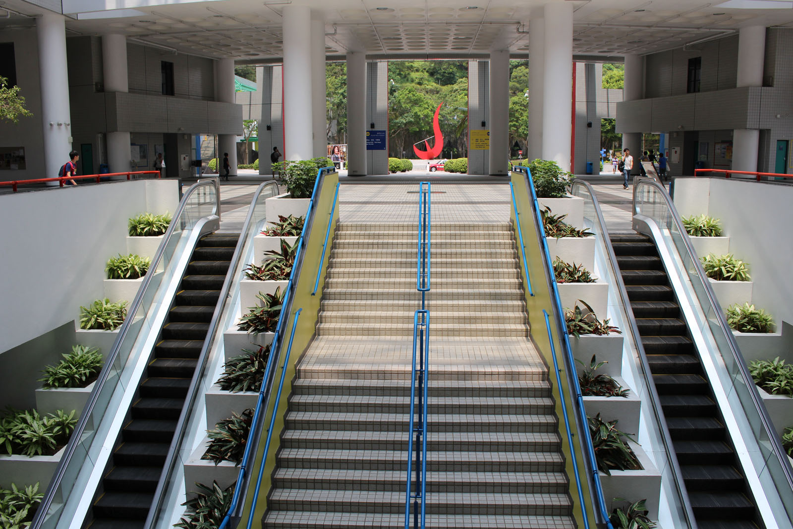
[{"label": "right handrail of the left escalator, on the side nearest the stairs", "polygon": [[239,232],[239,239],[237,240],[236,247],[234,249],[234,255],[232,255],[232,260],[228,266],[228,272],[226,273],[223,286],[220,287],[220,296],[217,299],[217,305],[215,305],[215,312],[213,312],[212,320],[209,321],[209,328],[206,332],[204,345],[201,347],[201,353],[198,355],[197,365],[195,371],[193,371],[193,379],[190,381],[190,388],[187,390],[187,398],[176,423],[176,433],[174,434],[174,439],[170,443],[170,448],[168,449],[168,454],[163,466],[163,472],[160,474],[154,499],[151,501],[151,507],[149,508],[146,522],[144,523],[144,529],[151,529],[151,527],[155,527],[159,510],[163,506],[163,501],[165,500],[168,488],[167,477],[174,470],[174,466],[178,460],[179,447],[182,446],[182,441],[185,438],[185,427],[187,421],[190,419],[190,412],[193,410],[193,404],[195,404],[197,399],[198,389],[201,387],[201,378],[204,375],[206,362],[209,358],[209,351],[212,349],[212,345],[215,341],[215,332],[220,322],[220,317],[223,315],[226,302],[228,301],[228,292],[232,288],[232,283],[235,280],[237,266],[239,266],[239,260],[242,259],[243,246],[247,232],[251,227],[255,205],[256,202],[259,201],[259,197],[266,188],[275,188],[275,194],[278,194],[278,184],[270,180],[269,182],[262,182],[259,184],[259,187],[256,188],[253,198],[251,199],[251,207],[248,209],[243,228]]}]

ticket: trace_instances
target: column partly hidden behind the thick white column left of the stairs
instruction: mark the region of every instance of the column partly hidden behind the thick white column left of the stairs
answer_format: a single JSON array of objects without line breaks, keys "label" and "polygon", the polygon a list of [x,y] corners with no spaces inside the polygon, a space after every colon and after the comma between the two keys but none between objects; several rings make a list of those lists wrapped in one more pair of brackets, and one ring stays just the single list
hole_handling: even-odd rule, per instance
[{"label": "column partly hidden behind the thick white column left of the stairs", "polygon": [[328,156],[328,102],[325,99],[325,21],[311,12],[311,113],[313,155]]}]

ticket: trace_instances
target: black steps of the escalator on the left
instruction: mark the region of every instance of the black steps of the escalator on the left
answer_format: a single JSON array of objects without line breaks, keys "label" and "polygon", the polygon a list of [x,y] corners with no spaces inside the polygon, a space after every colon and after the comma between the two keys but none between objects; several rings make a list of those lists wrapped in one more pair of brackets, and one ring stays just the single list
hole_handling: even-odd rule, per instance
[{"label": "black steps of the escalator on the left", "polygon": [[86,527],[143,527],[239,233],[201,237],[140,378]]}]

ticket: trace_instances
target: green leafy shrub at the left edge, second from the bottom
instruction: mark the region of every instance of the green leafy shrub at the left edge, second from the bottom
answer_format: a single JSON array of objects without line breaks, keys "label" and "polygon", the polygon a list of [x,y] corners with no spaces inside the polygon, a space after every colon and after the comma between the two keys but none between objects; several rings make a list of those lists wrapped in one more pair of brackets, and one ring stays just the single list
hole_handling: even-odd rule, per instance
[{"label": "green leafy shrub at the left edge, second from the bottom", "polygon": [[40,416],[35,409],[9,408],[0,418],[0,447],[9,455],[52,455],[68,443],[75,424],[75,410]]}]

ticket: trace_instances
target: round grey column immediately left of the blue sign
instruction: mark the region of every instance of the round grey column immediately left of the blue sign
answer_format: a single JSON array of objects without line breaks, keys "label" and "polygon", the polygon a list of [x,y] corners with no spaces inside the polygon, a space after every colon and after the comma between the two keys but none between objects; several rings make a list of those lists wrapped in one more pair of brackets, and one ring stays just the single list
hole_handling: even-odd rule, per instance
[{"label": "round grey column immediately left of the blue sign", "polygon": [[347,174],[366,174],[366,52],[347,52]]}]

